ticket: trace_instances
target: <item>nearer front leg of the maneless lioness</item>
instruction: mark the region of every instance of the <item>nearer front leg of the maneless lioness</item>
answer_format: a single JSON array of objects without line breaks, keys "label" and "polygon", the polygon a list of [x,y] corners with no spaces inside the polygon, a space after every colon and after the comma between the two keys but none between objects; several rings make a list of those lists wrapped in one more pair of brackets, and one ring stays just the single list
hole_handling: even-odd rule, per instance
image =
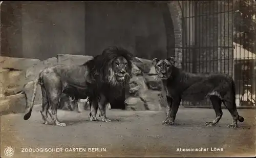
[{"label": "nearer front leg of the maneless lioness", "polygon": [[166,121],[163,122],[163,125],[173,125],[174,124],[176,114],[177,114],[179,106],[180,106],[180,101],[181,101],[180,98],[173,99],[172,109],[170,110]]}]

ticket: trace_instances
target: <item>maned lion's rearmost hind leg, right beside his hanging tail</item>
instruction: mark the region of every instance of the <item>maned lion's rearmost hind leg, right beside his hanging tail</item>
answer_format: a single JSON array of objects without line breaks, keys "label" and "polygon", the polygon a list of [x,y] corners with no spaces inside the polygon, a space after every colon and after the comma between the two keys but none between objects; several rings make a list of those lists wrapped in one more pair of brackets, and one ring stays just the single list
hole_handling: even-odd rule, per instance
[{"label": "maned lion's rearmost hind leg, right beside his hanging tail", "polygon": [[42,109],[40,110],[42,115],[42,121],[44,124],[48,124],[47,118],[48,118],[48,109],[49,109],[49,103],[47,98],[47,93],[44,85],[41,86],[42,91]]}]

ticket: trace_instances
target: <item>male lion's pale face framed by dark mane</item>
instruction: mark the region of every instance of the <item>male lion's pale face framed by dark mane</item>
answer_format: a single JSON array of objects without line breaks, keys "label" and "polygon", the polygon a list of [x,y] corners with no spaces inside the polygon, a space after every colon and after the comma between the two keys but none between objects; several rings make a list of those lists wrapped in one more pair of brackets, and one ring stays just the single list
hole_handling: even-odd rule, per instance
[{"label": "male lion's pale face framed by dark mane", "polygon": [[126,83],[131,78],[131,68],[124,57],[118,57],[112,62],[112,70],[115,80],[119,83]]}]

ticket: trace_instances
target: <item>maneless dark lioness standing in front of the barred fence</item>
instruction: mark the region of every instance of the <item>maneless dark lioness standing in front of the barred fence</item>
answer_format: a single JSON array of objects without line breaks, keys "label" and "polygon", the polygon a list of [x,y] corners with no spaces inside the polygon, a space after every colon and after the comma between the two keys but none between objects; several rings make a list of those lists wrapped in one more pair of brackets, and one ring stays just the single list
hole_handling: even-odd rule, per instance
[{"label": "maneless dark lioness standing in front of the barred fence", "polygon": [[167,118],[163,125],[173,125],[181,100],[202,101],[209,98],[214,107],[216,118],[213,122],[206,122],[206,126],[216,125],[222,117],[221,104],[223,103],[233,122],[228,127],[236,128],[237,122],[244,118],[238,115],[235,102],[235,85],[233,79],[221,73],[188,73],[175,66],[175,59],[153,59],[157,76],[162,79],[166,92],[168,105],[166,106]]}]

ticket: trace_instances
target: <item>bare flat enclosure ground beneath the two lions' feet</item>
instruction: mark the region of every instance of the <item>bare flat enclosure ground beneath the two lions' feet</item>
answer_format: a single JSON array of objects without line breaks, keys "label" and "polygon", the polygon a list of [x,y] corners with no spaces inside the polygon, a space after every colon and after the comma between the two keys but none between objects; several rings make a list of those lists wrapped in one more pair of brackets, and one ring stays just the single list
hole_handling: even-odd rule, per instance
[{"label": "bare flat enclosure ground beneath the two lions' feet", "polygon": [[[87,157],[87,156],[253,156],[255,155],[255,110],[239,109],[245,118],[238,129],[228,128],[231,115],[215,127],[204,123],[215,117],[214,109],[180,108],[176,125],[164,126],[164,111],[108,110],[110,123],[89,122],[89,111],[77,113],[58,110],[66,127],[41,123],[40,107],[29,120],[24,114],[1,117],[1,157],[6,147],[14,149],[12,157]],[[104,152],[22,152],[22,148],[106,148]],[[177,148],[209,148],[201,152],[178,152]],[[223,148],[224,151],[210,151]]]}]

